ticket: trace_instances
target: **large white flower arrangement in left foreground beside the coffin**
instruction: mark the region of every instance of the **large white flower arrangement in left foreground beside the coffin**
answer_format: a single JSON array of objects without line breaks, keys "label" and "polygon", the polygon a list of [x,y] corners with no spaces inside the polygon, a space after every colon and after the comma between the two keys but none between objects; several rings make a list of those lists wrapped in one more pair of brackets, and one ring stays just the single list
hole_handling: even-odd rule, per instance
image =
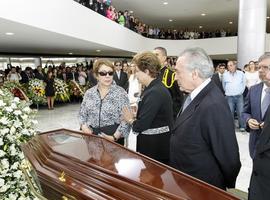
[{"label": "large white flower arrangement in left foreground beside the coffin", "polygon": [[36,134],[35,112],[29,102],[20,101],[7,89],[0,89],[0,199],[32,200],[26,179],[20,169],[25,162],[20,144]]}]

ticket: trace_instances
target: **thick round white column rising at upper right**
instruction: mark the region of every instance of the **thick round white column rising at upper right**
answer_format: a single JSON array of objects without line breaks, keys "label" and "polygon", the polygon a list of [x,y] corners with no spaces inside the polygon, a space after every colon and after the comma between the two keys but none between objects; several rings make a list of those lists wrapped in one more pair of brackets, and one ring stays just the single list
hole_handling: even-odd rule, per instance
[{"label": "thick round white column rising at upper right", "polygon": [[239,0],[237,59],[241,69],[265,52],[266,11],[266,0]]}]

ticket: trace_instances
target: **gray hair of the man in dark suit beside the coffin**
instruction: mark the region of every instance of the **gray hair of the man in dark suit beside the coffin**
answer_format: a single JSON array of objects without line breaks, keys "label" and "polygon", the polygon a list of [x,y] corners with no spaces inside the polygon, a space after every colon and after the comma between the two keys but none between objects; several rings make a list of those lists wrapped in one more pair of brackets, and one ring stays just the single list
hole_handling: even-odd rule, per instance
[{"label": "gray hair of the man in dark suit beside the coffin", "polygon": [[204,80],[212,77],[214,73],[213,61],[202,48],[187,48],[179,56],[185,57],[183,64],[187,70],[197,70],[199,77]]}]

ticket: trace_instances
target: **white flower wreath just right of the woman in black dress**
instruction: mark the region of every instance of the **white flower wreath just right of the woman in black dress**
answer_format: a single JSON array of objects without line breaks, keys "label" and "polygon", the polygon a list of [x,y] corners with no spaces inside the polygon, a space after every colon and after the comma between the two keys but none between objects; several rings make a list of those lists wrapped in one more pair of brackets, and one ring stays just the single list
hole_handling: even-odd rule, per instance
[{"label": "white flower wreath just right of the woman in black dress", "polygon": [[54,79],[55,100],[66,102],[70,100],[68,85],[61,79]]}]

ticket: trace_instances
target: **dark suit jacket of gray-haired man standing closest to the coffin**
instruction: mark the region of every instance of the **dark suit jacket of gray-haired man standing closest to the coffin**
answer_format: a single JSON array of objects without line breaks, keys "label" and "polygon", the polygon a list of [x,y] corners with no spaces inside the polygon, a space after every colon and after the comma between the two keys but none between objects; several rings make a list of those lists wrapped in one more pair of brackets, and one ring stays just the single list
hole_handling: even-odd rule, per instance
[{"label": "dark suit jacket of gray-haired man standing closest to the coffin", "polygon": [[172,167],[222,189],[235,187],[241,163],[234,122],[214,82],[176,119],[170,145]]}]

